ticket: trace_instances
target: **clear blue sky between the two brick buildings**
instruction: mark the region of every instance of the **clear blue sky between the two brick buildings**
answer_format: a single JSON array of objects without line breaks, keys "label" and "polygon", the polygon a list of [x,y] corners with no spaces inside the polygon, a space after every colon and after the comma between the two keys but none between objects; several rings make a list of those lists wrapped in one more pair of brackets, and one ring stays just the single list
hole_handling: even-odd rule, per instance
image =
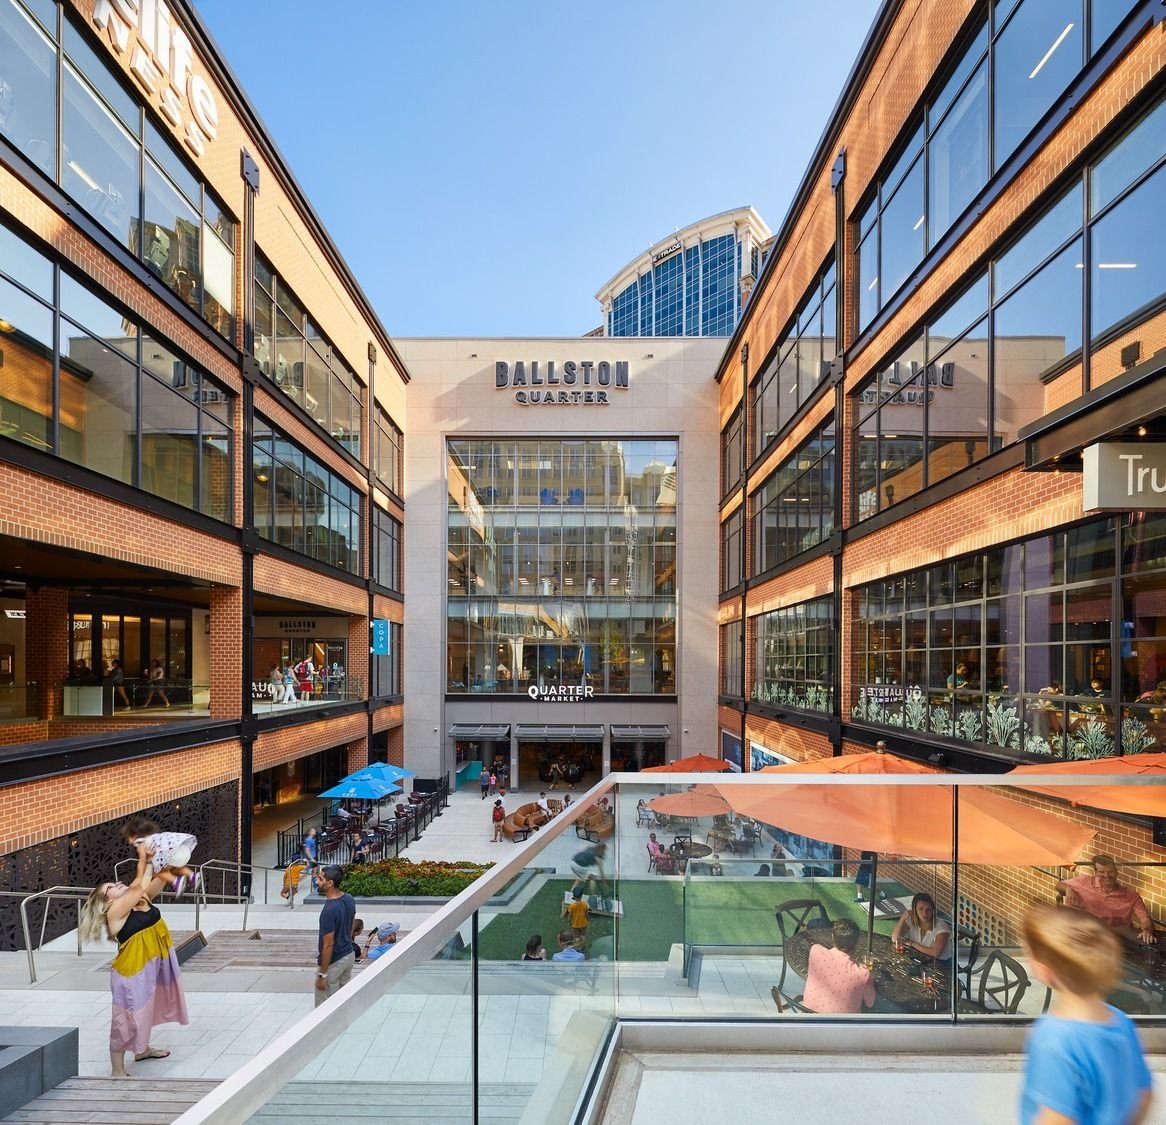
[{"label": "clear blue sky between the two brick buildings", "polygon": [[575,336],[675,227],[777,230],[876,0],[196,0],[394,336]]}]

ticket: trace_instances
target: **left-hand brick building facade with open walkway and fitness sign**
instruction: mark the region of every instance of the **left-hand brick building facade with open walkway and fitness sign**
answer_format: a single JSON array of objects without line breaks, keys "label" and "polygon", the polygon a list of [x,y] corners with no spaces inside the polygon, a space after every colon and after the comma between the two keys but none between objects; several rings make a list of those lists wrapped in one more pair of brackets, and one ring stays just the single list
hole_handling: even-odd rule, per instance
[{"label": "left-hand brick building facade with open walkway and fitness sign", "polygon": [[0,887],[146,809],[246,859],[402,761],[408,374],[192,5],[14,0],[0,55]]}]

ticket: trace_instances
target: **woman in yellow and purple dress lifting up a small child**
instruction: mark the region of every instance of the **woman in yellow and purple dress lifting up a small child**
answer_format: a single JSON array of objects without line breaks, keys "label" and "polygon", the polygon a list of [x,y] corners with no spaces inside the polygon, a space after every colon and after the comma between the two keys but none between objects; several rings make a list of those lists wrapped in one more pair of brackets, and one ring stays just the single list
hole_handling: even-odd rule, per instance
[{"label": "woman in yellow and purple dress lifting up a small child", "polygon": [[153,902],[166,883],[154,874],[149,860],[149,850],[139,846],[133,883],[101,883],[82,907],[82,936],[93,941],[104,933],[118,943],[110,970],[110,1062],[115,1078],[126,1076],[127,1050],[134,1053],[135,1062],[170,1054],[150,1045],[159,1024],[190,1022],[174,942]]}]

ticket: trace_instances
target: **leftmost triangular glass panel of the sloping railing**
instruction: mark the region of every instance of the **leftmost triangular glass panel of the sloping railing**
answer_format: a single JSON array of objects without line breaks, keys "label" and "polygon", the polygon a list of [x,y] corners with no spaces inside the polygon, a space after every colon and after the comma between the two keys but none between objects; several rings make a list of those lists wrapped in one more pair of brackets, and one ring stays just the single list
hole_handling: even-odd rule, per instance
[{"label": "leftmost triangular glass panel of the sloping railing", "polygon": [[[367,910],[365,915],[368,921]],[[372,926],[384,920],[377,916]],[[342,987],[326,1003],[356,1001],[359,1014],[338,1034],[321,1036],[293,1080],[248,1119],[324,1120],[359,1108],[360,1116],[393,1120],[408,1105],[421,1118],[473,1122],[470,929],[466,920],[442,934],[434,955],[378,999],[360,1004],[352,984]],[[389,968],[395,950],[386,948],[381,957],[357,966],[356,982]]]}]

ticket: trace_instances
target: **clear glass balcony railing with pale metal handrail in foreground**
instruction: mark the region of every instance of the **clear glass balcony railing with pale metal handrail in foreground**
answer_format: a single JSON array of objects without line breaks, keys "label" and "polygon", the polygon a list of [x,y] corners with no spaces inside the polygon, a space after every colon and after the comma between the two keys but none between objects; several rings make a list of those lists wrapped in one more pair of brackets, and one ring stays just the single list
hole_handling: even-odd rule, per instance
[{"label": "clear glass balcony railing with pale metal handrail in foreground", "polygon": [[[874,1025],[983,1050],[976,1027],[1012,1034],[1049,1000],[1021,943],[1028,903],[1101,909],[1112,879],[1137,903],[1109,919],[1110,1001],[1161,1025],[1166,938],[1151,915],[1166,863],[1147,857],[1166,773],[1137,766],[610,775],[180,1125],[325,1115],[353,1090],[386,1118],[408,1098],[442,1120],[566,1125],[602,1097],[628,1035],[724,1050],[726,1069],[743,1027],[754,1045],[782,1028],[801,1028],[795,1043],[828,1035],[834,1056],[868,1053]],[[652,809],[665,795],[668,811]],[[584,821],[604,823],[598,844]],[[1116,869],[1103,855],[1095,867],[1108,852]],[[834,987],[823,956],[857,986]]]}]

